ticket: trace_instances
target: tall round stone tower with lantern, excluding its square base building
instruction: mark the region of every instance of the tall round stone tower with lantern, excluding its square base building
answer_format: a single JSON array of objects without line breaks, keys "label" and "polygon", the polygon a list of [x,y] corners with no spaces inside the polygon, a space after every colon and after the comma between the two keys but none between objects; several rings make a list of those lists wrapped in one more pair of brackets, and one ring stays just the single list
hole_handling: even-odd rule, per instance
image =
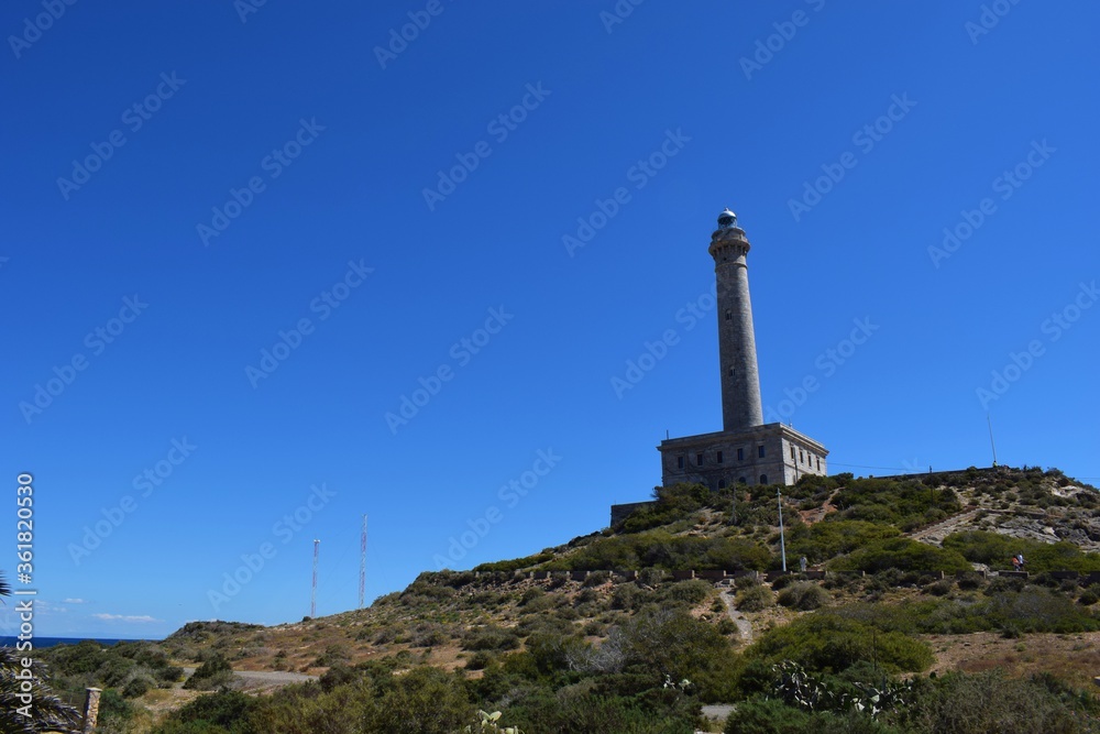
[{"label": "tall round stone tower with lantern, excluding its square base building", "polygon": [[763,424],[760,372],[752,331],[749,271],[745,262],[749,241],[726,209],[711,235],[711,256],[718,300],[718,362],[722,366],[722,428],[745,430]]}]

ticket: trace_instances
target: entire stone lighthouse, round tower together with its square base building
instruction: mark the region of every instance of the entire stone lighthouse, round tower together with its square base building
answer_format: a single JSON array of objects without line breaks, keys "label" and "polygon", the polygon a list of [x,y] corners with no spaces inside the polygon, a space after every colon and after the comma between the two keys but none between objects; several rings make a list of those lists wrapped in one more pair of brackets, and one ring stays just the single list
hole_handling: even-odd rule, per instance
[{"label": "entire stone lighthouse, round tower together with its square base building", "polygon": [[765,424],[746,258],[749,240],[726,209],[711,234],[717,293],[722,430],[661,441],[661,480],[713,490],[739,484],[793,484],[827,474],[824,446],[781,423]]}]

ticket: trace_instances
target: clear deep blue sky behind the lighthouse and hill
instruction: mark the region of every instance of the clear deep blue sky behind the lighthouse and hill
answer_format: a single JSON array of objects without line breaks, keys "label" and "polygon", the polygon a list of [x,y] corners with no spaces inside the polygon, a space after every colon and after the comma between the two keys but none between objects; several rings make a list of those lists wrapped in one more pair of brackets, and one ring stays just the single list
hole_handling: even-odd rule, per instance
[{"label": "clear deep blue sky behind the lighthouse and hill", "polygon": [[988,410],[1096,483],[1098,20],[6,3],[0,568],[20,472],[46,635],[298,620],[315,538],[353,609],[363,514],[367,600],[600,529],[721,428],[726,206],[832,471],[988,465]]}]

